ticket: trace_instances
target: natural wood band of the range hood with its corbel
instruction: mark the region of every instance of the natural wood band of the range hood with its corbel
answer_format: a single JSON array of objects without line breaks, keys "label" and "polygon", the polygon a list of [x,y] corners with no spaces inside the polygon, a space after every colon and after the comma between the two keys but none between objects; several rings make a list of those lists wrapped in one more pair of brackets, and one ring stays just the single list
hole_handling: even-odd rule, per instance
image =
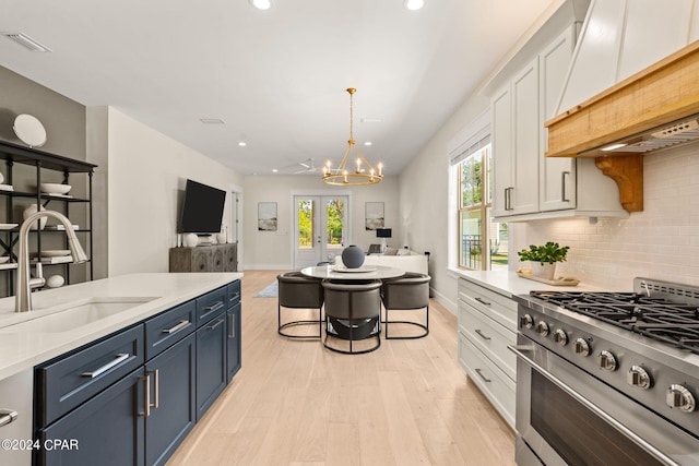
[{"label": "natural wood band of the range hood with its corbel", "polygon": [[594,157],[628,212],[643,210],[643,154],[699,141],[699,40],[546,121],[546,157]]}]

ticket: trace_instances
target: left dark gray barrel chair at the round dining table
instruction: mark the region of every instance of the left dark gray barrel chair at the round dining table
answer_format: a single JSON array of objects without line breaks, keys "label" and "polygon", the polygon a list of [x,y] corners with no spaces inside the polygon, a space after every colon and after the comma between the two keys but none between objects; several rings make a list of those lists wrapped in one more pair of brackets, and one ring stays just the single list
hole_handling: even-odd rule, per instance
[{"label": "left dark gray barrel chair at the round dining table", "polygon": [[[279,304],[276,309],[277,332],[288,338],[320,338],[323,328],[323,287],[318,278],[307,277],[300,272],[286,272],[276,276]],[[318,309],[318,320],[293,320],[282,323],[282,308]],[[318,333],[292,334],[285,328],[296,325],[318,325]]]}]

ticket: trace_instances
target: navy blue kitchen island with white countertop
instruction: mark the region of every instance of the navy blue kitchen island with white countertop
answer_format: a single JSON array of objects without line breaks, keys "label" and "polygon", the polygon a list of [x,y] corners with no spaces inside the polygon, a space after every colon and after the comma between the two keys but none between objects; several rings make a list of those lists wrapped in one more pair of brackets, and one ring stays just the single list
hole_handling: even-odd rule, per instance
[{"label": "navy blue kitchen island with white countertop", "polygon": [[23,313],[1,299],[0,394],[23,410],[0,463],[163,464],[240,368],[241,277],[123,275]]}]

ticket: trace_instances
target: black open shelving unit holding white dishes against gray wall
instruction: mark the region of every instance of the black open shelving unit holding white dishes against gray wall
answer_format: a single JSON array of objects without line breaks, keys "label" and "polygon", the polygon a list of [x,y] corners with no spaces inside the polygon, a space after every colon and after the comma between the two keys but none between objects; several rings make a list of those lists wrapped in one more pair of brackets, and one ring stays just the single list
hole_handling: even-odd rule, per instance
[{"label": "black open shelving unit holding white dishes against gray wall", "polygon": [[[74,222],[71,218],[71,205],[82,204],[86,205],[86,210],[84,212],[84,223],[80,225],[80,229],[75,230],[79,234],[79,238],[83,248],[87,252],[87,256],[90,258],[85,265],[84,277],[85,279],[93,279],[93,236],[92,236],[92,223],[93,223],[93,206],[92,206],[92,198],[93,198],[93,174],[94,169],[97,167],[94,164],[90,164],[87,162],[75,160],[72,158],[63,157],[61,155],[50,154],[48,152],[39,151],[36,148],[21,146],[11,142],[0,141],[0,160],[4,160],[5,163],[5,179],[3,184],[10,184],[15,187],[15,183],[21,181],[24,184],[29,186],[29,183],[35,184],[36,189],[23,189],[23,190],[0,190],[0,199],[5,199],[5,208],[4,208],[4,218],[0,217],[0,224],[19,224],[21,225],[23,222],[22,213],[17,213],[17,206],[21,203],[21,200],[29,200],[36,205],[42,205],[46,210],[56,210],[58,212],[63,213],[71,222]],[[32,167],[31,171],[33,171],[33,177],[25,176],[23,180],[15,179],[15,166],[20,164],[23,166]],[[43,171],[55,171],[59,172],[58,176],[49,177],[51,180],[49,182],[61,182],[63,184],[71,184],[71,175],[73,175],[73,181],[75,181],[75,175],[82,175],[84,178],[82,180],[78,180],[83,183],[81,189],[84,190],[84,195],[81,196],[60,196],[60,195],[51,195],[46,194],[40,191],[40,184],[43,181]],[[32,179],[33,178],[33,179]],[[55,180],[54,178],[60,178],[60,181]],[[75,186],[71,192],[75,190]],[[0,201],[1,202],[1,201]],[[81,219],[81,223],[83,219]],[[4,296],[11,296],[14,294],[14,274],[12,271],[16,270],[16,253],[14,251],[15,244],[19,240],[20,228],[14,227],[11,229],[4,229],[0,234],[0,251],[2,255],[9,255],[10,260],[8,264],[0,264],[0,280],[2,279],[1,275],[4,274],[4,283],[5,290],[2,292]],[[35,236],[34,242],[36,244],[36,250],[32,252],[36,252],[39,256],[43,251],[42,249],[42,237],[47,238],[47,236],[62,236],[63,238],[63,248],[68,249],[68,238],[66,237],[66,232],[61,230],[47,230],[47,229],[37,229],[32,230],[33,236]],[[71,273],[70,273],[70,263],[61,263],[61,264],[44,264],[45,267],[63,267],[66,283],[72,284]],[[51,275],[51,273],[45,270],[45,275]]]}]

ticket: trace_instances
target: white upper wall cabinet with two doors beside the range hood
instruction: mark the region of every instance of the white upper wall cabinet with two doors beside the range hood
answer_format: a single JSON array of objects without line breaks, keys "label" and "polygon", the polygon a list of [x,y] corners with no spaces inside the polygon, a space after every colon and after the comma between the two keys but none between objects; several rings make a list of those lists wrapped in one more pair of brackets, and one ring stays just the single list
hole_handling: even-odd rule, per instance
[{"label": "white upper wall cabinet with two doors beside the range hood", "polygon": [[[491,98],[494,216],[500,222],[564,216],[627,217],[616,183],[592,159],[546,158],[577,37],[570,25]],[[509,112],[509,115],[508,115]]]}]

